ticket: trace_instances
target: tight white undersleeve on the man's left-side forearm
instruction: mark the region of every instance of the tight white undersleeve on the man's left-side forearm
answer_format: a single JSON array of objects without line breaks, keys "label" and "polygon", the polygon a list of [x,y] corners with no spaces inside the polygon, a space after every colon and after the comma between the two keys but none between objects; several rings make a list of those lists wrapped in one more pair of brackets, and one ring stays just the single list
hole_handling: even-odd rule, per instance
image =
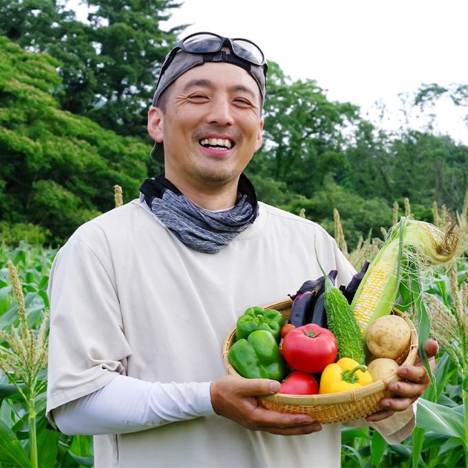
[{"label": "tight white undersleeve on the man's left-side forearm", "polygon": [[118,375],[100,390],[53,410],[67,435],[127,434],[211,416],[211,382],[151,383]]}]

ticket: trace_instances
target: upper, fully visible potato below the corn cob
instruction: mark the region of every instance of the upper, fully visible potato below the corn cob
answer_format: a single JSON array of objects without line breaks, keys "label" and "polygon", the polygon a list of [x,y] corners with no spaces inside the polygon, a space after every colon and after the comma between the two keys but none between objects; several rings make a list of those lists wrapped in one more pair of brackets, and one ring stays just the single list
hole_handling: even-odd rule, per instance
[{"label": "upper, fully visible potato below the corn cob", "polygon": [[397,359],[405,352],[411,339],[411,330],[398,315],[384,315],[368,327],[365,343],[375,357]]}]

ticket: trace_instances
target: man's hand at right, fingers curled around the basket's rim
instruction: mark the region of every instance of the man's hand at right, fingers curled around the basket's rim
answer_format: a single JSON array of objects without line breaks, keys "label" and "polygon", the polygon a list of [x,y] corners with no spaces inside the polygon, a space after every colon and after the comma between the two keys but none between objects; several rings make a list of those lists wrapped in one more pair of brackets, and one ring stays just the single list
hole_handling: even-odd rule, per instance
[{"label": "man's hand at right, fingers curled around the basket's rim", "polygon": [[[438,352],[438,344],[434,340],[429,340],[426,341],[425,348],[427,357],[429,358],[429,365],[432,372],[434,372],[434,368],[436,367],[434,356]],[[396,372],[404,380],[388,383],[388,390],[390,390],[392,397],[382,398],[380,401],[381,406],[386,409],[371,414],[365,418],[366,421],[381,421],[392,416],[396,411],[403,411],[423,394],[431,381],[419,357],[414,365],[402,365]]]}]

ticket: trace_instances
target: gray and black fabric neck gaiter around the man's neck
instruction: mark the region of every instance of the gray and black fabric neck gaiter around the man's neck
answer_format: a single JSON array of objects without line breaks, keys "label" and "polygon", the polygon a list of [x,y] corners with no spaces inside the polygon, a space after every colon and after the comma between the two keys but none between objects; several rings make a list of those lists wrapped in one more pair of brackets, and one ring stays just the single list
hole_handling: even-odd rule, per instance
[{"label": "gray and black fabric neck gaiter around the man's neck", "polygon": [[225,211],[213,212],[195,206],[164,175],[145,180],[140,191],[162,224],[194,251],[219,252],[257,217],[257,195],[243,174],[237,202]]}]

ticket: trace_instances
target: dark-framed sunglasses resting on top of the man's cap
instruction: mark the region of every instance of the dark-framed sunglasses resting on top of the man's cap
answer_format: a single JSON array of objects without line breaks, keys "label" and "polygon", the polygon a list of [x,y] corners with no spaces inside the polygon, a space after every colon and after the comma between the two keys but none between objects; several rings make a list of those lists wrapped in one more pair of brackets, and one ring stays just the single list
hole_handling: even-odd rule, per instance
[{"label": "dark-framed sunglasses resting on top of the man's cap", "polygon": [[[225,45],[229,47],[237,58],[263,67],[264,76],[266,77],[268,65],[266,64],[264,53],[257,44],[248,39],[229,39],[228,37],[213,34],[213,32],[195,32],[195,34],[190,34],[175,44],[173,50],[169,52],[162,64],[158,83],[179,50],[189,52],[189,54],[217,54]],[[213,60],[215,60],[214,56]]]}]

